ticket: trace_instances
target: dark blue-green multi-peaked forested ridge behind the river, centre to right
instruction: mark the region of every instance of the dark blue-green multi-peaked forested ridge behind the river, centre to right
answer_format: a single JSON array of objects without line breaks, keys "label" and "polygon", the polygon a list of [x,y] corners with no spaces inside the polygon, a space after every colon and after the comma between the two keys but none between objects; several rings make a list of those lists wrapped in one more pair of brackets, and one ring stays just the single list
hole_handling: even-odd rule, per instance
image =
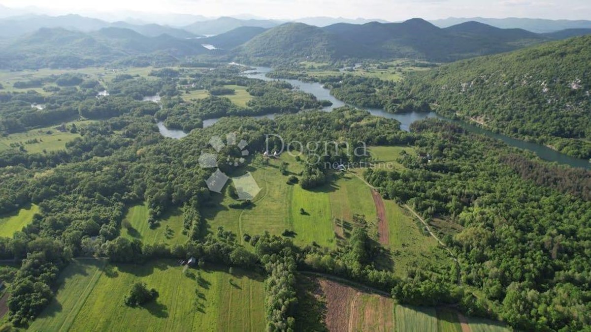
[{"label": "dark blue-green multi-peaked forested ridge behind the river, centre to right", "polygon": [[[584,31],[567,35],[572,33]],[[252,62],[277,62],[286,56],[290,60],[407,57],[445,62],[516,50],[562,36],[500,29],[478,22],[441,29],[420,18],[387,24],[339,23],[323,28],[287,23],[252,38],[236,54]]]}]

